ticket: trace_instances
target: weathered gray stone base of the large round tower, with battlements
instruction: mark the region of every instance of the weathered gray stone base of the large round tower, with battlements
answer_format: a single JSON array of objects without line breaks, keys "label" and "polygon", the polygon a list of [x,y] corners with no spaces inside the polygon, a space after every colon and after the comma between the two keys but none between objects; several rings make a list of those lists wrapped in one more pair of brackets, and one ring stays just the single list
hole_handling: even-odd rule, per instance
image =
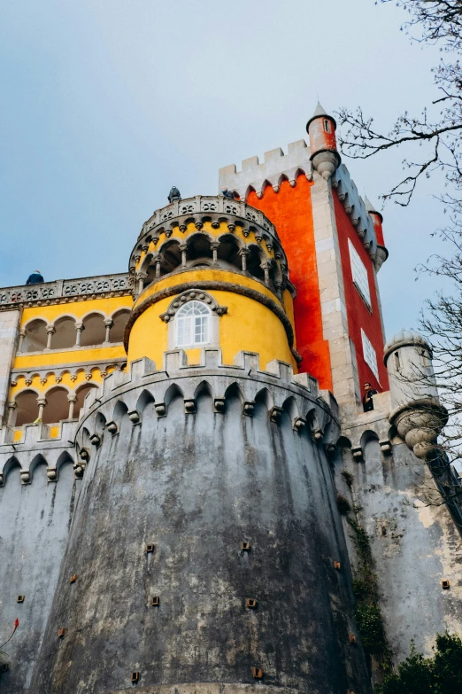
[{"label": "weathered gray stone base of the large round tower, with battlements", "polygon": [[133,671],[141,691],[250,688],[261,667],[268,690],[370,691],[349,639],[326,403],[282,364],[149,367],[106,379],[86,403],[77,438],[90,458],[33,690],[107,694]]}]

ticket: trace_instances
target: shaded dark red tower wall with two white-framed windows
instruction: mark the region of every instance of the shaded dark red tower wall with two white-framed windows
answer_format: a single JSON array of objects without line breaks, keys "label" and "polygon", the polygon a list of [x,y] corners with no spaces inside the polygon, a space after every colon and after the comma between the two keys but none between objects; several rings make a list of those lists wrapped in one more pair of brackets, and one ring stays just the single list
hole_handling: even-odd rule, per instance
[{"label": "shaded dark red tower wall with two white-framed windows", "polygon": [[[333,191],[335,220],[337,223],[338,241],[340,253],[342,256],[343,269],[343,284],[345,287],[345,301],[348,316],[348,331],[350,339],[356,348],[356,358],[358,361],[359,385],[362,387],[366,381],[370,381],[371,385],[379,392],[389,389],[389,379],[387,370],[382,361],[384,339],[381,331],[381,317],[379,311],[379,303],[377,293],[373,281],[372,261],[363,242],[358,237],[358,234],[350,222],[350,217],[346,214],[342,203],[337,198],[337,194]],[[351,275],[350,250],[348,247],[348,239],[358,252],[359,257],[366,265],[367,276],[369,278],[369,292],[371,293],[372,313],[366,307],[366,303],[361,298],[357,288],[353,285],[353,277]],[[366,336],[372,342],[375,354],[377,355],[377,366],[379,369],[380,383],[373,375],[372,370],[366,364],[363,358],[363,342],[361,339],[361,328],[366,332]]]}]

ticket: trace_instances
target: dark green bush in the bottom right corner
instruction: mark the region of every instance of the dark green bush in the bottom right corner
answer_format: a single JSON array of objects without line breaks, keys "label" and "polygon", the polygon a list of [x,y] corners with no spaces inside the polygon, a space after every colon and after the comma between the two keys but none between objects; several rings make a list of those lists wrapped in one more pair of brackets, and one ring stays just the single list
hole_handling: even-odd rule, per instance
[{"label": "dark green bush in the bottom right corner", "polygon": [[457,694],[462,691],[462,641],[457,635],[439,634],[433,658],[412,652],[397,672],[385,675],[375,694]]}]

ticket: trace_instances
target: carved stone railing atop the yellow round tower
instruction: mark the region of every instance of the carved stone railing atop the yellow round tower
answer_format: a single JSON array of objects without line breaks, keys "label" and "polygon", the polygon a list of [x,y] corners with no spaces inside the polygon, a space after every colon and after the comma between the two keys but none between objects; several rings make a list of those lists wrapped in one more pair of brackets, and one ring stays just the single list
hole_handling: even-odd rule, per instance
[{"label": "carved stone railing atop the yellow round tower", "polygon": [[222,195],[196,195],[195,198],[176,200],[171,205],[156,210],[150,219],[144,222],[139,238],[148,231],[153,230],[158,224],[168,223],[177,217],[198,213],[231,214],[236,217],[242,217],[248,222],[259,224],[260,227],[269,231],[270,234],[277,238],[274,225],[265,214],[255,209],[255,207],[247,206],[242,200],[224,198]]}]

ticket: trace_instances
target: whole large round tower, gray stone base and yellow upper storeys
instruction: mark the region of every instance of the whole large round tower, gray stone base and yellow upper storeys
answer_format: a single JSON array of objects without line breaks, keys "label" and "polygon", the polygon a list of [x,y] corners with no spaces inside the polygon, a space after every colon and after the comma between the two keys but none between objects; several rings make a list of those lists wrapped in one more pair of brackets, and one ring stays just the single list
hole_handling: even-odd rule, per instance
[{"label": "whole large round tower, gray stone base and yellow upper storeys", "polygon": [[294,375],[276,230],[238,201],[175,201],[130,269],[127,373],[85,402],[31,690],[369,692],[326,453],[335,402]]}]

